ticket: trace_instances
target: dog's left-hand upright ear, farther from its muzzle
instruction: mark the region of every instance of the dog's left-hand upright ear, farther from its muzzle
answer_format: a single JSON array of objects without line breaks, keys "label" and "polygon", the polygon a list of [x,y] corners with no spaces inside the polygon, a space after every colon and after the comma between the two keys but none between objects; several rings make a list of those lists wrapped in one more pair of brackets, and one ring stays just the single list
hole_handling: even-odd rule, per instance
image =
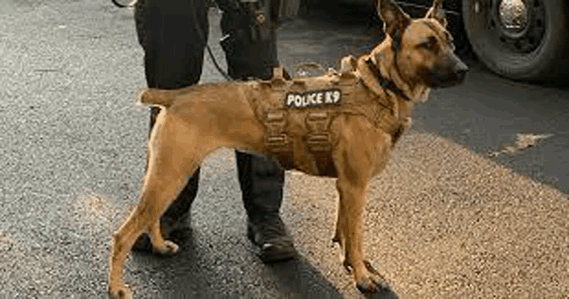
[{"label": "dog's left-hand upright ear, farther from its muzzle", "polygon": [[403,30],[409,25],[411,18],[392,0],[378,1],[377,12],[383,21],[383,30],[393,39],[393,46],[398,48]]}]

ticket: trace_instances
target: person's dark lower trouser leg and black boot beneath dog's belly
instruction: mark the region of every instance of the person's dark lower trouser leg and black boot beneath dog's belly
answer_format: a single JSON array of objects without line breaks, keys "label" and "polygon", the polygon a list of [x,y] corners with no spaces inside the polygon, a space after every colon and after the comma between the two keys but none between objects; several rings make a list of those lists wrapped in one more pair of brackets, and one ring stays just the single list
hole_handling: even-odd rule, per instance
[{"label": "person's dark lower trouser leg and black boot beneath dog's belly", "polygon": [[293,238],[279,215],[285,172],[267,158],[239,151],[236,156],[249,239],[260,247],[263,262],[292,259],[296,256]]}]

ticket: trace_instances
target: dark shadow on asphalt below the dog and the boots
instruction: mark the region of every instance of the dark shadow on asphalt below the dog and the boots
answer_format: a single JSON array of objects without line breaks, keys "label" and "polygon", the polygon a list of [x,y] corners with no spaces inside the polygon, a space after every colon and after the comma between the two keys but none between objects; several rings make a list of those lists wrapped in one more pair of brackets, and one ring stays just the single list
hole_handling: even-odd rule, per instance
[{"label": "dark shadow on asphalt below the dog and the boots", "polygon": [[[201,239],[201,236],[199,236]],[[326,298],[344,298],[335,286],[315,269],[309,261],[299,256],[291,261],[275,264],[262,264],[255,252],[217,252],[215,255],[230,256],[229,259],[213,258],[212,253],[197,243],[197,236],[188,228],[178,231],[171,240],[178,243],[178,254],[165,257],[144,252],[131,255],[131,260],[138,265],[134,270],[145,278],[136,279],[136,285],[156,284],[154,288],[162,289],[160,296],[188,297],[211,295],[213,297],[297,297],[317,295]],[[246,238],[243,238],[246,239]],[[245,240],[244,242],[249,242]],[[252,246],[251,246],[252,247]],[[235,262],[231,256],[250,254],[248,258],[254,262]],[[238,259],[239,260],[239,259]],[[253,264],[253,265],[251,265]],[[228,266],[231,265],[231,266]],[[220,270],[221,269],[221,270]],[[227,270],[231,269],[231,270]],[[145,273],[144,273],[145,272]],[[149,279],[152,278],[152,279]],[[141,291],[144,294],[152,293]],[[397,296],[380,296],[372,298],[397,298]]]}]

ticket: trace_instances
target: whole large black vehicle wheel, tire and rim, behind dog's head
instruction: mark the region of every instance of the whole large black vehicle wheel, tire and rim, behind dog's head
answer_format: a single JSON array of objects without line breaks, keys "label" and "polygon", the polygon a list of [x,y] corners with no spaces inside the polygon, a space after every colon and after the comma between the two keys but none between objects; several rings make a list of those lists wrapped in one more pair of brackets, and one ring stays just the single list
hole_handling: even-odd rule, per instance
[{"label": "whole large black vehicle wheel, tire and rim, behind dog's head", "polygon": [[462,20],[490,70],[514,80],[556,81],[567,73],[567,7],[566,0],[462,0]]}]

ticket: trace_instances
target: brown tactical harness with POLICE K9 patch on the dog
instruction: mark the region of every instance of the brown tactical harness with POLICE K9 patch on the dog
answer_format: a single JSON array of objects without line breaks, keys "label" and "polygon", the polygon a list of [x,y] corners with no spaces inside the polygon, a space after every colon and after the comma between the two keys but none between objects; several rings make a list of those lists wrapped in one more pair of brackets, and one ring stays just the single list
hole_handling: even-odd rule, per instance
[{"label": "brown tactical harness with POLICE K9 patch on the dog", "polygon": [[[390,89],[381,74],[371,71],[382,88]],[[387,132],[393,144],[405,128],[395,107],[397,98],[408,100],[402,91],[392,90],[396,97],[378,95],[356,72],[331,70],[319,77],[285,80],[277,67],[271,80],[255,81],[251,91],[249,103],[266,130],[265,148],[285,169],[336,177],[331,152],[340,132],[333,132],[330,124],[340,115],[363,115]]]}]

